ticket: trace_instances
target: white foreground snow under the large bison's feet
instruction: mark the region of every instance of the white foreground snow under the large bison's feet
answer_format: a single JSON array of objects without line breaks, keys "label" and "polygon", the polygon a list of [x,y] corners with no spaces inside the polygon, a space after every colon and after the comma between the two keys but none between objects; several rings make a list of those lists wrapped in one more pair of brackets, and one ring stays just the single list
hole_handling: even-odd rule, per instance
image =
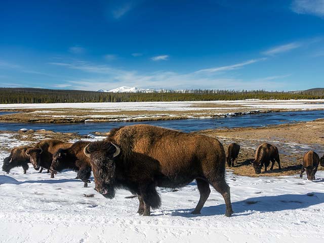
[{"label": "white foreground snow under the large bison's feet", "polygon": [[[90,136],[90,139],[102,139]],[[25,144],[2,134],[6,148]],[[0,166],[9,152],[0,150]],[[251,168],[252,170],[252,168]],[[222,196],[212,189],[201,215],[191,215],[199,199],[195,182],[178,191],[158,188],[162,206],[152,216],[136,214],[137,198],[118,190],[106,199],[84,188],[75,172],[49,174],[30,168],[0,173],[0,242],[323,242],[324,171],[306,177],[233,175],[234,214],[224,216]],[[93,178],[91,178],[93,179]],[[84,194],[90,196],[86,197]],[[94,194],[91,197],[91,194]]]}]

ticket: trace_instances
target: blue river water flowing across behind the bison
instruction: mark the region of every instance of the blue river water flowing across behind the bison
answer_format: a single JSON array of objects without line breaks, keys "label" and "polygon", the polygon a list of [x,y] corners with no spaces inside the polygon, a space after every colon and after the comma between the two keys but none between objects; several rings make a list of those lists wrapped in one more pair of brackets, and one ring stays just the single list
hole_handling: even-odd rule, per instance
[{"label": "blue river water flowing across behind the bison", "polygon": [[154,120],[139,122],[114,121],[104,123],[75,124],[0,123],[0,130],[18,131],[21,128],[27,128],[33,130],[45,129],[62,133],[77,132],[79,134],[90,134],[93,132],[108,132],[112,128],[129,126],[133,124],[150,124],[154,126],[181,130],[184,132],[193,132],[198,130],[216,128],[264,127],[268,125],[279,125],[286,123],[296,123],[298,121],[309,121],[317,118],[324,118],[324,110],[271,112],[218,118]]}]

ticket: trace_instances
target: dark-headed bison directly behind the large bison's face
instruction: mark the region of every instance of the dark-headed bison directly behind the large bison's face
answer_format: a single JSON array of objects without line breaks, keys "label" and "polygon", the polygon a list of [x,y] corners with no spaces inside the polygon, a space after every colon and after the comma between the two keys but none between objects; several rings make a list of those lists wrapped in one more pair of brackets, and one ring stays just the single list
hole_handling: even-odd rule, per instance
[{"label": "dark-headed bison directly behind the large bison's face", "polygon": [[78,179],[84,182],[84,187],[88,187],[89,178],[91,176],[90,158],[88,158],[83,150],[89,144],[85,141],[77,141],[69,148],[60,148],[53,154],[52,171],[62,171],[64,169],[72,169],[77,172]]}]

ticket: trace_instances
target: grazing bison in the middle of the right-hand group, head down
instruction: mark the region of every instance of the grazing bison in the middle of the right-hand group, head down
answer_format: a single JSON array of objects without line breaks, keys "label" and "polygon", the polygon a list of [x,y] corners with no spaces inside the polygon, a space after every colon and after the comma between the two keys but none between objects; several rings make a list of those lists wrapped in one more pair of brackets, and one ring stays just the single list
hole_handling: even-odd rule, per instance
[{"label": "grazing bison in the middle of the right-hand group, head down", "polygon": [[267,171],[267,167],[270,165],[270,160],[272,162],[270,168],[271,171],[273,170],[275,161],[277,161],[279,170],[281,170],[278,148],[269,143],[263,143],[257,148],[257,151],[255,153],[255,159],[252,162],[255,173],[260,174],[263,165],[264,171]]}]

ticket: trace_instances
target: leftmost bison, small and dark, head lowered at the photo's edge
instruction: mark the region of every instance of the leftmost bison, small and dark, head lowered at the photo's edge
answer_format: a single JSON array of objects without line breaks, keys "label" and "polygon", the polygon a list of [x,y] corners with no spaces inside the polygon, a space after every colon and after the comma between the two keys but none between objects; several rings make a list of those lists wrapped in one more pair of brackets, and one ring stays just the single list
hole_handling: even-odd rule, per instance
[{"label": "leftmost bison, small and dark, head lowered at the photo's edge", "polygon": [[26,155],[26,150],[31,146],[19,146],[11,150],[10,155],[4,158],[4,164],[2,170],[9,174],[10,170],[14,167],[21,166],[26,174],[29,166],[29,157]]}]

